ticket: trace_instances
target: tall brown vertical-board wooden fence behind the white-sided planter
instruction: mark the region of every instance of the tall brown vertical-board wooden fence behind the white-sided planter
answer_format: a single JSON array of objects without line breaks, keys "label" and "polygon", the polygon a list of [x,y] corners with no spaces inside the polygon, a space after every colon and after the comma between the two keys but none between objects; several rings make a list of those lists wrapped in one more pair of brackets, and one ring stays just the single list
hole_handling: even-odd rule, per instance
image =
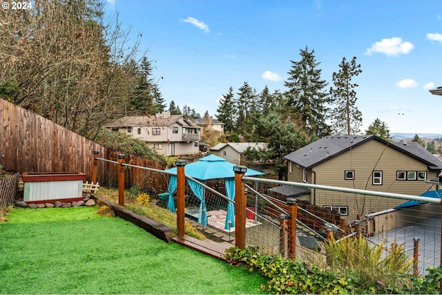
[{"label": "tall brown vertical-board wooden fence behind the white-sided planter", "polygon": [[[99,158],[110,160],[116,160],[119,154],[0,99],[0,164],[3,169],[19,172],[78,171],[86,173],[86,180],[90,181],[93,151],[99,151]],[[126,162],[155,169],[166,168],[164,163],[133,155],[126,155]],[[112,179],[112,169],[101,168],[98,169],[97,180],[102,184],[109,183],[107,180]],[[160,183],[160,178],[152,173],[146,175],[143,171],[132,171],[128,173],[127,181],[130,184],[155,185]]]}]

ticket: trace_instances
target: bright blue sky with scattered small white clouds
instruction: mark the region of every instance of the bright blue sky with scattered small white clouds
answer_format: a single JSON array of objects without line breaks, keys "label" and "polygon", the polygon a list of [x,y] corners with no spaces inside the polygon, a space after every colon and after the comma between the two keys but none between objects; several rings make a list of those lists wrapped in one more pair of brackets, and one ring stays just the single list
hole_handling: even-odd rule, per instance
[{"label": "bright blue sky with scattered small white clouds", "polygon": [[307,46],[329,86],[357,57],[361,131],[379,118],[392,133],[442,133],[442,97],[428,91],[442,86],[440,0],[108,0],[116,12],[128,44],[142,34],[168,107],[215,117],[230,86],[284,92]]}]

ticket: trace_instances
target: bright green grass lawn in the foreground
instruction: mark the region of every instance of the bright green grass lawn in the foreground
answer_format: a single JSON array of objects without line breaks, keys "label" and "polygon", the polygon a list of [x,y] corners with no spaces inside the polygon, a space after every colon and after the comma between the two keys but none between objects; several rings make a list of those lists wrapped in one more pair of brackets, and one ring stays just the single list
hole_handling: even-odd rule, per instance
[{"label": "bright green grass lawn in the foreground", "polygon": [[260,274],[96,211],[12,209],[0,222],[0,294],[262,294]]}]

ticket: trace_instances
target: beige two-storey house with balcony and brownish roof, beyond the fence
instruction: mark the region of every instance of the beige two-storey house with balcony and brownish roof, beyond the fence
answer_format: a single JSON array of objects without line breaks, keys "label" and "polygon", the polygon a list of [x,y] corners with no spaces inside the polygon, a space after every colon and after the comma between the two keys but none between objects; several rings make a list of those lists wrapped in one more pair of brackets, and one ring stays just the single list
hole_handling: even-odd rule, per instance
[{"label": "beige two-storey house with balcony and brownish roof, beyond the fence", "polygon": [[191,124],[183,115],[163,112],[156,115],[126,116],[104,126],[144,140],[161,155],[199,153],[200,127]]}]

